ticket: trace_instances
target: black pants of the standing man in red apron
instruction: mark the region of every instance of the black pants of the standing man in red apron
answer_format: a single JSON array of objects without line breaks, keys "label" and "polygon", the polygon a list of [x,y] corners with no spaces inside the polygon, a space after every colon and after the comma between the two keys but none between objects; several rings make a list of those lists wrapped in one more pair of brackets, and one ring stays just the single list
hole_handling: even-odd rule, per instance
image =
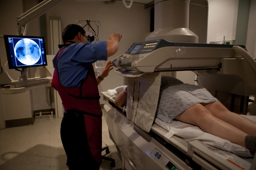
[{"label": "black pants of the standing man in red apron", "polygon": [[61,124],[61,138],[65,149],[69,170],[99,170],[89,149],[84,124],[84,114],[64,113]]}]

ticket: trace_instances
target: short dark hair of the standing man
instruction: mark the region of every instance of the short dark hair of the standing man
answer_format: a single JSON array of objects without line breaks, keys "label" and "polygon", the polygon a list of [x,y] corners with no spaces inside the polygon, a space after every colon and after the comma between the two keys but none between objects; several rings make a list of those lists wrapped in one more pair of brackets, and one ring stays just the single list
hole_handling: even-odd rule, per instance
[{"label": "short dark hair of the standing man", "polygon": [[76,24],[67,25],[62,32],[62,40],[65,44],[68,40],[72,40],[78,33],[85,35],[84,29]]}]

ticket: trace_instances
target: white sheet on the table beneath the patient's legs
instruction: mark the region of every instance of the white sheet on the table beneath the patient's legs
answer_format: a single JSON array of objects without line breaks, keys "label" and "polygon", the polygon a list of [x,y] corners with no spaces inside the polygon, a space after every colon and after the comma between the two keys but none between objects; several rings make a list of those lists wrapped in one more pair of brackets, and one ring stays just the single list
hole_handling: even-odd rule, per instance
[{"label": "white sheet on the table beneath the patient's legs", "polygon": [[163,127],[165,130],[168,131],[168,133],[165,135],[165,140],[167,141],[173,135],[177,135],[182,137],[187,142],[190,142],[192,140],[201,140],[205,144],[209,144],[216,148],[226,150],[238,156],[252,156],[248,149],[238,144],[233,144],[229,140],[225,140],[220,137],[203,132],[203,130],[201,130],[198,126],[194,126],[192,124],[184,123],[177,120],[173,120],[172,123],[166,123],[158,118],[155,119],[154,123],[158,124],[160,127]]}]

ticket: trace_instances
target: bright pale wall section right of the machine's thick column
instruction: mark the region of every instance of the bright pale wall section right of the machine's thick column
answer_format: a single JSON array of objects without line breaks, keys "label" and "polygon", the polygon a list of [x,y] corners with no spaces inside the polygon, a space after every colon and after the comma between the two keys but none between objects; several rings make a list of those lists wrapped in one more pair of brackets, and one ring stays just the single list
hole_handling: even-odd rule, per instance
[{"label": "bright pale wall section right of the machine's thick column", "polygon": [[207,43],[234,40],[236,33],[238,0],[208,0],[209,17]]}]

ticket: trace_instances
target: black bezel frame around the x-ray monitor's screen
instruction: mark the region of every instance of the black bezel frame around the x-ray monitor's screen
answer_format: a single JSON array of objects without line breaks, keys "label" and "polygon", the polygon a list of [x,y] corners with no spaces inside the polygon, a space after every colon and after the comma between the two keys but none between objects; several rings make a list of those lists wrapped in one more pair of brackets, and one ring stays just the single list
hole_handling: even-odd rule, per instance
[{"label": "black bezel frame around the x-ray monitor's screen", "polygon": [[[42,55],[41,51],[41,56],[44,58],[45,64],[38,64],[38,65],[26,65],[26,66],[13,66],[12,62],[12,57],[11,57],[11,49],[10,49],[10,43],[8,38],[37,38],[37,39],[43,39],[43,47],[44,47],[44,57]],[[15,69],[15,68],[32,68],[32,67],[41,67],[41,66],[47,66],[47,57],[46,57],[46,51],[45,51],[45,41],[44,37],[39,37],[39,36],[22,36],[22,35],[4,35],[4,44],[5,44],[5,50],[6,50],[6,55],[7,55],[7,61],[8,61],[8,66],[9,69]]]}]

